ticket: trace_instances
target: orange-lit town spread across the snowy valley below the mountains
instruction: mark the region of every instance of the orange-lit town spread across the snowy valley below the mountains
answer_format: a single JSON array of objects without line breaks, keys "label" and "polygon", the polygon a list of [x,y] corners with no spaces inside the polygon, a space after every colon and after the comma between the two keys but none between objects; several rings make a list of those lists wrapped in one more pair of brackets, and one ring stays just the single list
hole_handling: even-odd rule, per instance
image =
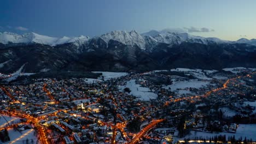
[{"label": "orange-lit town spread across the snowy valley below the mountains", "polygon": [[247,130],[256,128],[256,69],[93,73],[27,81],[1,74],[2,143],[256,141]]}]

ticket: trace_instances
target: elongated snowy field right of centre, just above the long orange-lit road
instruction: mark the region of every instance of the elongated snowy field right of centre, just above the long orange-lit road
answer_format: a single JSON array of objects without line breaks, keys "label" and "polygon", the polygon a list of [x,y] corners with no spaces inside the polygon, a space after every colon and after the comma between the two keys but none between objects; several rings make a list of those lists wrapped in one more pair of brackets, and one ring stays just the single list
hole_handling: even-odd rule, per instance
[{"label": "elongated snowy field right of centre, just above the long orange-lit road", "polygon": [[165,86],[164,88],[171,88],[172,91],[176,91],[178,88],[201,88],[209,85],[208,81],[198,81],[198,80],[190,80],[190,81],[175,81],[172,85]]}]

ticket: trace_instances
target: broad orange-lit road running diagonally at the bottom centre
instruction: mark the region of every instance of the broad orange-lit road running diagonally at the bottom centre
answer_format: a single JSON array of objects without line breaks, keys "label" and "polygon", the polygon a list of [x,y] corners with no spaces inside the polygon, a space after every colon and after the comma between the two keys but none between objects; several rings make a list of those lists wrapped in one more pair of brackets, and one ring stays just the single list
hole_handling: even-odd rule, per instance
[{"label": "broad orange-lit road running diagonally at the bottom centre", "polygon": [[149,123],[147,127],[143,128],[139,133],[129,142],[129,144],[135,144],[143,137],[150,129],[155,127],[156,124],[164,122],[165,119],[158,119],[158,120],[153,120],[153,122]]}]

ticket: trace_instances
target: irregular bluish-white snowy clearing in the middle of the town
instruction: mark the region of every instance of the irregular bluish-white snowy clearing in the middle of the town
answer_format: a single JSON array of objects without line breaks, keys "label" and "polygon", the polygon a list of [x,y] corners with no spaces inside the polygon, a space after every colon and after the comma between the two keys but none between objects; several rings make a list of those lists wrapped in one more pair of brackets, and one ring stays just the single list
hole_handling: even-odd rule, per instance
[{"label": "irregular bluish-white snowy clearing in the middle of the town", "polygon": [[137,85],[135,80],[127,81],[126,86],[120,86],[120,91],[124,91],[124,88],[130,88],[131,92],[129,94],[138,97],[140,100],[150,100],[156,99],[158,97],[157,94],[153,92],[149,92],[150,89],[147,87],[141,87],[141,85]]}]

